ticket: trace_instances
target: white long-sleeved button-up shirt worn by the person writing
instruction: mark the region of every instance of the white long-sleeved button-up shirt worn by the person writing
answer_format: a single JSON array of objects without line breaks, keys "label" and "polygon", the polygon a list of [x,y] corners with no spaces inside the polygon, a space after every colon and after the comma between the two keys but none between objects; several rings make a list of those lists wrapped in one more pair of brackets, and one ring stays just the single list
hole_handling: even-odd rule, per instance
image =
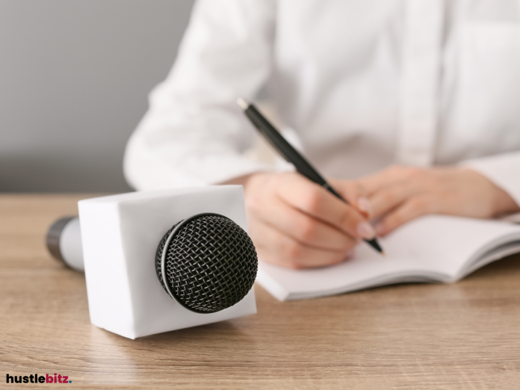
[{"label": "white long-sleeved button-up shirt worn by the person writing", "polygon": [[199,0],[128,142],[136,189],[286,169],[236,105],[267,86],[326,176],[464,163],[520,204],[520,0]]}]

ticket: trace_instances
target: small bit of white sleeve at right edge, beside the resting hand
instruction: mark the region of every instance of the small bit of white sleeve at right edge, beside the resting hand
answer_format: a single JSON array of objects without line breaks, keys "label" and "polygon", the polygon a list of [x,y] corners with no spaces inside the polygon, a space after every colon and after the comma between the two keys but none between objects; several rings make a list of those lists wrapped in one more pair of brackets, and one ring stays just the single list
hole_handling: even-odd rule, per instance
[{"label": "small bit of white sleeve at right edge, beside the resting hand", "polygon": [[462,166],[486,176],[520,205],[520,152],[509,152],[465,160]]}]

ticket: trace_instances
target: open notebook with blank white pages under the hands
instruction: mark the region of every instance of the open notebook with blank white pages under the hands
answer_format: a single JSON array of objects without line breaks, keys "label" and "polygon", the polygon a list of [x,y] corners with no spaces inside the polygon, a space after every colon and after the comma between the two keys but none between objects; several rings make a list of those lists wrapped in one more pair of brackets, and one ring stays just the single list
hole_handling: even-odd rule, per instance
[{"label": "open notebook with blank white pages under the hands", "polygon": [[455,282],[520,252],[520,225],[430,215],[380,239],[386,256],[367,244],[345,263],[294,270],[259,262],[256,281],[279,301],[334,295],[401,282]]}]

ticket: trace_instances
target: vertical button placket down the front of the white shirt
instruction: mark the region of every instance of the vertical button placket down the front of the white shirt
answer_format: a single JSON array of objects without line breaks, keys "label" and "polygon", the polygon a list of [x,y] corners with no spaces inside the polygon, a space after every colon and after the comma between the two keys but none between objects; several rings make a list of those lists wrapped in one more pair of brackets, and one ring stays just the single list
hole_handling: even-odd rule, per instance
[{"label": "vertical button placket down the front of the white shirt", "polygon": [[438,126],[444,0],[406,0],[396,160],[433,163]]}]

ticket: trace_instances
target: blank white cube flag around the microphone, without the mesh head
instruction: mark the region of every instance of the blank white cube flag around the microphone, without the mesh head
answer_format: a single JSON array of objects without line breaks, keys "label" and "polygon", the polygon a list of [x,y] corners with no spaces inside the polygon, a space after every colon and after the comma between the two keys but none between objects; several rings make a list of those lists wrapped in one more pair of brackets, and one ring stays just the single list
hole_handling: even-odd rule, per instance
[{"label": "blank white cube flag around the microphone, without the mesh head", "polygon": [[155,252],[166,231],[200,213],[222,214],[247,231],[242,186],[129,192],[78,203],[90,321],[135,339],[256,313],[254,289],[237,304],[200,314],[163,289]]}]

